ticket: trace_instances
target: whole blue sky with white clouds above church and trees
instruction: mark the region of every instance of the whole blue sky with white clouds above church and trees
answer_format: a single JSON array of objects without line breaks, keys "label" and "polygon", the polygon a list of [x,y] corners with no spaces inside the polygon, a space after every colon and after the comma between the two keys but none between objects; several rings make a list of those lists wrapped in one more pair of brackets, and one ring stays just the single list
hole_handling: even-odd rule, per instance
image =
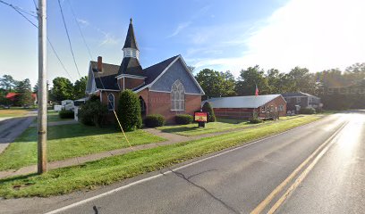
[{"label": "whole blue sky with white clouds above church and trees", "polygon": [[[32,0],[2,1],[36,12]],[[47,36],[65,68],[48,45],[50,82],[55,77],[74,82],[88,75],[89,61],[98,56],[103,62],[120,64],[131,17],[142,68],[177,54],[195,67],[194,73],[206,68],[231,70],[236,77],[257,64],[264,70],[289,72],[300,66],[316,72],[365,62],[363,0],[60,0],[60,4],[79,71],[58,2],[49,0]],[[37,24],[36,18],[25,14]],[[2,3],[0,26],[0,76],[30,78],[34,85],[38,29]]]}]

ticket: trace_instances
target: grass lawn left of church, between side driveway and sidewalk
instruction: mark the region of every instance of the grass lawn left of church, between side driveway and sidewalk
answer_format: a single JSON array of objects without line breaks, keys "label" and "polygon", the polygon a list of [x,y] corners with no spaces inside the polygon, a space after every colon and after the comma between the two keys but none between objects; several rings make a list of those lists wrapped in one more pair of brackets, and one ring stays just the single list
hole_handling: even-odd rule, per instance
[{"label": "grass lawn left of church, between side driveway and sidewalk", "polygon": [[[166,140],[142,130],[128,132],[126,135],[132,145]],[[82,124],[48,127],[47,137],[48,161],[129,146],[123,134],[115,128],[94,128]],[[28,128],[0,154],[0,170],[19,169],[32,164],[37,164],[37,128]]]}]

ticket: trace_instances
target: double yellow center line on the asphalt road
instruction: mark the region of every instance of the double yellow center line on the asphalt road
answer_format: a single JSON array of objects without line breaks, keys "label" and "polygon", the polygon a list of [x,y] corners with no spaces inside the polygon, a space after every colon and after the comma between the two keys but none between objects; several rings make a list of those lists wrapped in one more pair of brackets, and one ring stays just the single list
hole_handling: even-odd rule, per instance
[{"label": "double yellow center line on the asphalt road", "polygon": [[278,185],[273,192],[269,193],[267,195],[267,198],[260,202],[259,205],[250,212],[250,214],[259,214],[262,212],[262,210],[265,210],[265,208],[267,207],[267,205],[273,201],[273,199],[276,197],[276,195],[278,193],[280,193],[283,189],[284,189],[284,186],[288,185],[289,182],[291,182],[293,180],[293,177],[295,177],[300,171],[301,169],[304,168],[304,166],[306,166],[316,155],[317,153],[322,150],[327,144],[329,144],[334,138],[335,136],[337,136],[337,134],[346,126],[347,123],[344,123],[340,128],[338,128],[335,133],[330,136],[327,141],[325,141],[325,143],[321,144],[316,151],[312,152],[310,154],[310,157],[308,157],[305,161],[303,161],[301,163],[301,165],[299,165],[299,167],[297,169],[295,169],[292,174],[289,176],[289,177],[286,177],[285,180],[280,184]]}]

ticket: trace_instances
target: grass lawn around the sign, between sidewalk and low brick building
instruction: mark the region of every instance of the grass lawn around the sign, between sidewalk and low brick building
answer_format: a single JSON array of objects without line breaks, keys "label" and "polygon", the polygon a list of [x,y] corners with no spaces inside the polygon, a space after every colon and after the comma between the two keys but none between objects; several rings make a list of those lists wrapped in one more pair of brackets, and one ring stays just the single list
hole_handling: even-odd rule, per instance
[{"label": "grass lawn around the sign, between sidewalk and low brick building", "polygon": [[[279,121],[286,119],[294,119],[298,117],[306,117],[306,116],[297,115],[297,116],[281,117]],[[271,123],[271,122],[273,121],[266,121],[265,123]],[[188,125],[165,126],[157,129],[162,130],[163,132],[174,133],[182,136],[199,136],[209,133],[225,131],[233,128],[255,127],[258,125],[259,124],[250,124],[249,122],[247,122],[247,120],[244,119],[217,118],[216,122],[207,123],[205,128],[198,128],[197,123],[192,123]]]}]

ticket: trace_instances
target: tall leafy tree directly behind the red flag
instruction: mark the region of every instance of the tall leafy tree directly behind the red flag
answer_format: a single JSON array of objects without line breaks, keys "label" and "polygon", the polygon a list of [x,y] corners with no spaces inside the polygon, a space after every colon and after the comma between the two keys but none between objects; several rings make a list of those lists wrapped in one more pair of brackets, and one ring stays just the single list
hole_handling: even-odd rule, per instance
[{"label": "tall leafy tree directly behind the red flag", "polygon": [[237,95],[255,95],[256,86],[259,88],[259,95],[267,95],[270,92],[264,70],[260,70],[259,65],[241,70],[235,86]]}]

